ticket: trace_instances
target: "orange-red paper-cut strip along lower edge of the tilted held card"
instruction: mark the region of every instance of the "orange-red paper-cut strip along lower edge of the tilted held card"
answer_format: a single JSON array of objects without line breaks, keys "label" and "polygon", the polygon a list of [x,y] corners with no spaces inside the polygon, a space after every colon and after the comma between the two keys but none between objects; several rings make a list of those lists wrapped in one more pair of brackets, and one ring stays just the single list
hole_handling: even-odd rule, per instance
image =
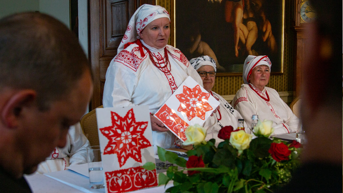
[{"label": "orange-red paper-cut strip along lower edge of the tilted held card", "polygon": [[155,116],[181,140],[186,141],[187,137],[185,135],[185,130],[189,125],[176,113],[173,113],[166,104],[164,104],[161,109],[155,113]]}]

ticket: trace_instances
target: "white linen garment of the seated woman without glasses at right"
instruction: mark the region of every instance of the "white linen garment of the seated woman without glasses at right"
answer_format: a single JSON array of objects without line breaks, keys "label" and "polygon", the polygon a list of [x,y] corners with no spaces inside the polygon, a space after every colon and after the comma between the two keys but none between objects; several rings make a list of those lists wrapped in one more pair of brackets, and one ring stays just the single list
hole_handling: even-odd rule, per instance
[{"label": "white linen garment of the seated woman without glasses at right", "polygon": [[[269,98],[269,101],[259,94],[265,99]],[[252,84],[242,84],[231,105],[241,114],[249,127],[251,127],[251,116],[258,115],[261,121],[274,122],[275,130],[272,135],[297,132],[299,118],[293,114],[275,89],[264,87],[261,92]]]}]

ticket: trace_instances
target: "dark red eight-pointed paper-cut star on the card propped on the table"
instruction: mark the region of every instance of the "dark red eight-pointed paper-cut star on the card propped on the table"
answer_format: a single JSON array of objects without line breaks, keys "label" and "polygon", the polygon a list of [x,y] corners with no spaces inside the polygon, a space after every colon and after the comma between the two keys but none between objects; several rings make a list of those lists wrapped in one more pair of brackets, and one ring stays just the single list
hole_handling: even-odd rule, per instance
[{"label": "dark red eight-pointed paper-cut star on the card propped on the table", "polygon": [[151,144],[143,133],[148,122],[136,122],[133,109],[124,117],[111,111],[112,125],[100,128],[100,132],[109,140],[105,147],[105,154],[117,154],[119,166],[122,167],[129,157],[142,162],[141,149]]}]

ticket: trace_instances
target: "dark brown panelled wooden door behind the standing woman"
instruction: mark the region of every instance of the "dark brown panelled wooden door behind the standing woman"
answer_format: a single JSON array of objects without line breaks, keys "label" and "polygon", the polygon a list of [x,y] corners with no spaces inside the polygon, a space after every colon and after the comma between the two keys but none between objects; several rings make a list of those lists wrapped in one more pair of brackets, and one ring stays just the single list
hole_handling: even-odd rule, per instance
[{"label": "dark brown panelled wooden door behind the standing woman", "polygon": [[155,0],[88,0],[88,53],[94,75],[90,111],[102,105],[108,65],[117,54],[131,16],[144,3],[155,4]]}]

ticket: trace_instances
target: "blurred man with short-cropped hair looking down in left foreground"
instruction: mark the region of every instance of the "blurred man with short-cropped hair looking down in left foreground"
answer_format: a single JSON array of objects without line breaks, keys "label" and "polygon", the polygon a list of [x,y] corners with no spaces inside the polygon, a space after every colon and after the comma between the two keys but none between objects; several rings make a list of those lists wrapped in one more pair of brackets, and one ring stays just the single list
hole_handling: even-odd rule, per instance
[{"label": "blurred man with short-cropped hair looking down in left foreground", "polygon": [[31,192],[23,174],[66,145],[93,91],[91,66],[75,35],[42,13],[0,20],[0,186]]}]

